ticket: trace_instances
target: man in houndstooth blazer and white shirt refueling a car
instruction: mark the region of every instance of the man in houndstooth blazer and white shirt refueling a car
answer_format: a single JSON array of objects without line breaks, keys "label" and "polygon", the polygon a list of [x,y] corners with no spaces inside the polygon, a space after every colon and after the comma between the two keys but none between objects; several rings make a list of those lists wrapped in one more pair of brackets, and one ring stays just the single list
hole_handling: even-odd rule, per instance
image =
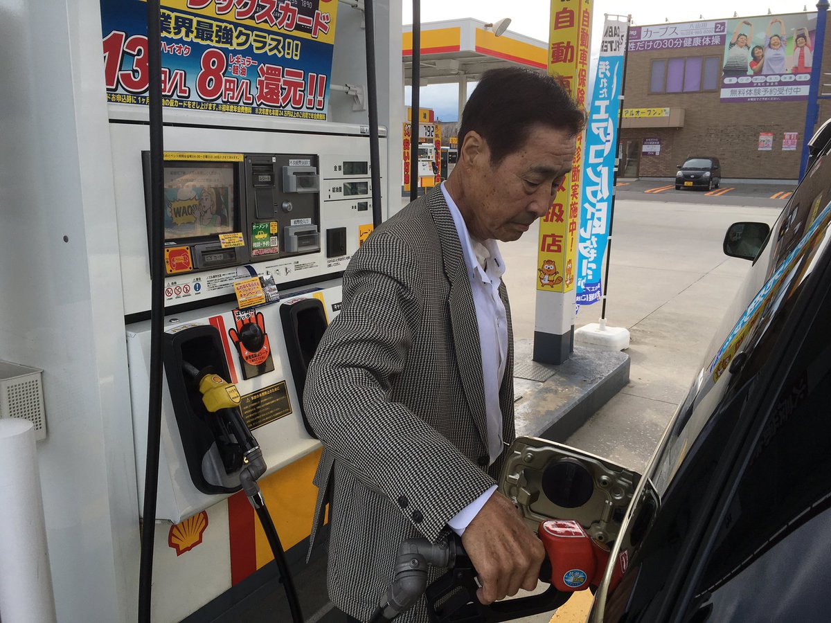
[{"label": "man in houndstooth blazer and white shirt refueling a car", "polygon": [[[347,267],[304,405],[325,449],[318,518],[332,488],[329,594],[359,621],[391,582],[400,543],[451,529],[479,573],[479,601],[536,586],[543,547],[495,493],[514,439],[496,241],[548,212],[582,125],[553,78],[487,72],[465,106],[450,179],[377,228]],[[400,619],[426,621],[424,601]]]}]

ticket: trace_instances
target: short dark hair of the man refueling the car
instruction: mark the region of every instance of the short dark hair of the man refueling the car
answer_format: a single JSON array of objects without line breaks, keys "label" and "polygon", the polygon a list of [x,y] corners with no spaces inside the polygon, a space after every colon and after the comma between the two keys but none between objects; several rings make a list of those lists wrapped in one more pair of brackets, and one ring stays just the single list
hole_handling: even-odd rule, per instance
[{"label": "short dark hair of the man refueling the car", "polygon": [[491,164],[522,148],[533,125],[577,135],[585,113],[556,79],[521,67],[485,71],[462,113],[459,148],[475,131],[488,142]]}]

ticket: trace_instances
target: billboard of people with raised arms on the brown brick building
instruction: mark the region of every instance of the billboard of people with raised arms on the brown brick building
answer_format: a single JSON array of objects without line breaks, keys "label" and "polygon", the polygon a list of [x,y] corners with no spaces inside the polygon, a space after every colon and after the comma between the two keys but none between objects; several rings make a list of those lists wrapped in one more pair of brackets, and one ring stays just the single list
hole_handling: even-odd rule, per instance
[{"label": "billboard of people with raised arms on the brown brick building", "polygon": [[808,99],[816,22],[816,13],[727,20],[721,101]]}]

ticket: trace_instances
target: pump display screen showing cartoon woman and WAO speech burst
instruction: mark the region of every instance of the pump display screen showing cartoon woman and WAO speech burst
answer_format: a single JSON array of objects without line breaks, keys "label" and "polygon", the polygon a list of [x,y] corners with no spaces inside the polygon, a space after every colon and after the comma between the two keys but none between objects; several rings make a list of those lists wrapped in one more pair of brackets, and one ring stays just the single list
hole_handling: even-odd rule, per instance
[{"label": "pump display screen showing cartoon woman and WAO speech burst", "polygon": [[234,231],[234,164],[165,163],[165,240]]}]

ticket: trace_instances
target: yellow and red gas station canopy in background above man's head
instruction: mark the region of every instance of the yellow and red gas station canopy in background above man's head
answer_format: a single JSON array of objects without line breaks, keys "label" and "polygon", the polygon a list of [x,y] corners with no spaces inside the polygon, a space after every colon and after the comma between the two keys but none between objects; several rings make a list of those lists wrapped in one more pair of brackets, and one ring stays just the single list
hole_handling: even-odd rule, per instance
[{"label": "yellow and red gas station canopy in background above man's head", "polygon": [[[412,83],[412,25],[404,27],[402,51],[404,83]],[[420,85],[476,81],[496,67],[526,66],[545,71],[545,42],[505,31],[499,37],[493,25],[478,19],[421,24]]]}]

